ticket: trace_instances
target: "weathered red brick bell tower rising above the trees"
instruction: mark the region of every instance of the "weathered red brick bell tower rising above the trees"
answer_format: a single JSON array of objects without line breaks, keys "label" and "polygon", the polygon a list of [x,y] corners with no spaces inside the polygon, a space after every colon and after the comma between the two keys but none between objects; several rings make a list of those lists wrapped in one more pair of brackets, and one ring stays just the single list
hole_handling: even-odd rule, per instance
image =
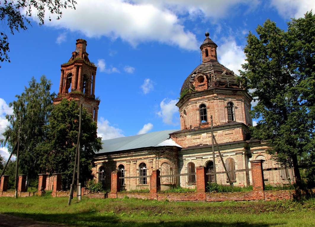
[{"label": "weathered red brick bell tower rising above the trees", "polygon": [[76,100],[83,104],[92,118],[97,122],[100,100],[95,99],[95,76],[97,67],[90,62],[86,53],[87,43],[84,39],[77,39],[76,50],[68,62],[61,65],[60,85],[54,104],[63,98]]}]

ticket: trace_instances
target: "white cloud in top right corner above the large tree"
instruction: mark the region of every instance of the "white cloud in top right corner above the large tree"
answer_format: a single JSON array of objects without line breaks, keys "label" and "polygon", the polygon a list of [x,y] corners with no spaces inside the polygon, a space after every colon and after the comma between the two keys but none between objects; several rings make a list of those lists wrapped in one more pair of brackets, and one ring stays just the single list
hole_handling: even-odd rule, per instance
[{"label": "white cloud in top right corner above the large tree", "polygon": [[284,18],[304,17],[307,11],[315,10],[314,0],[271,0],[270,5],[275,7]]}]

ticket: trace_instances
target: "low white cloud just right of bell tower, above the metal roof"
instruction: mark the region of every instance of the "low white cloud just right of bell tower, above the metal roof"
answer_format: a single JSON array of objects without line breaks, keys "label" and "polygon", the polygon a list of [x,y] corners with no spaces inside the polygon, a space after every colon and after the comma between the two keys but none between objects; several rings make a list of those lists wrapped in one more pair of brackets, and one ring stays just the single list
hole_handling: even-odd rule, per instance
[{"label": "low white cloud just right of bell tower, above the metal roof", "polygon": [[97,136],[102,137],[102,140],[109,140],[118,137],[123,137],[123,130],[110,126],[109,121],[101,117],[97,122]]}]

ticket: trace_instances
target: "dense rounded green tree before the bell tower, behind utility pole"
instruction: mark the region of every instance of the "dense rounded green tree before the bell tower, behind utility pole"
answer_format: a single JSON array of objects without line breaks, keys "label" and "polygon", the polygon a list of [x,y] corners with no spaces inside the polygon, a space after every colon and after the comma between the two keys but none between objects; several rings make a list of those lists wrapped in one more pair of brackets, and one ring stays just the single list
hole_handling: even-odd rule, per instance
[{"label": "dense rounded green tree before the bell tower, behind utility pole", "polygon": [[[80,109],[77,102],[63,99],[54,105],[46,126],[48,134],[39,150],[44,151],[42,167],[50,174],[61,173],[62,181],[71,182],[79,130]],[[81,183],[91,179],[91,169],[95,152],[101,149],[101,138],[96,136],[96,122],[91,118],[86,108],[82,110],[81,136]]]}]

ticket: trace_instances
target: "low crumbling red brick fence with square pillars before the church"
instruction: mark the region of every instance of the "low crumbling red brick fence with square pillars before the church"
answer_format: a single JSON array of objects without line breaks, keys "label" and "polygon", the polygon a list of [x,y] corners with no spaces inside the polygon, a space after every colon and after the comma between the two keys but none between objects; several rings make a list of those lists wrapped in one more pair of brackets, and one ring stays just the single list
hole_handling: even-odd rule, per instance
[{"label": "low crumbling red brick fence with square pillars before the church", "polygon": [[[295,190],[274,190],[264,191],[264,175],[262,171],[262,162],[264,160],[253,160],[251,163],[253,191],[245,192],[226,192],[226,193],[212,193],[206,192],[206,185],[208,177],[204,166],[196,168],[196,191],[185,193],[166,193],[160,191],[161,178],[159,178],[160,171],[153,170],[150,177],[150,192],[147,193],[130,193],[120,191],[120,172],[113,171],[111,174],[111,192],[91,192],[87,188],[81,189],[81,195],[87,198],[123,198],[128,196],[130,198],[140,199],[155,199],[155,200],[169,200],[169,201],[247,201],[247,200],[283,200],[292,199],[295,197]],[[61,174],[56,173],[52,175],[53,178],[53,197],[69,196],[69,191],[61,191]],[[3,175],[0,181],[0,197],[8,196],[14,197],[14,191],[7,191],[8,175]],[[33,193],[25,192],[26,175],[19,175],[18,196],[26,197],[32,196]],[[38,195],[41,195],[46,188],[47,174],[38,174]],[[315,194],[315,189],[304,193]]]}]

